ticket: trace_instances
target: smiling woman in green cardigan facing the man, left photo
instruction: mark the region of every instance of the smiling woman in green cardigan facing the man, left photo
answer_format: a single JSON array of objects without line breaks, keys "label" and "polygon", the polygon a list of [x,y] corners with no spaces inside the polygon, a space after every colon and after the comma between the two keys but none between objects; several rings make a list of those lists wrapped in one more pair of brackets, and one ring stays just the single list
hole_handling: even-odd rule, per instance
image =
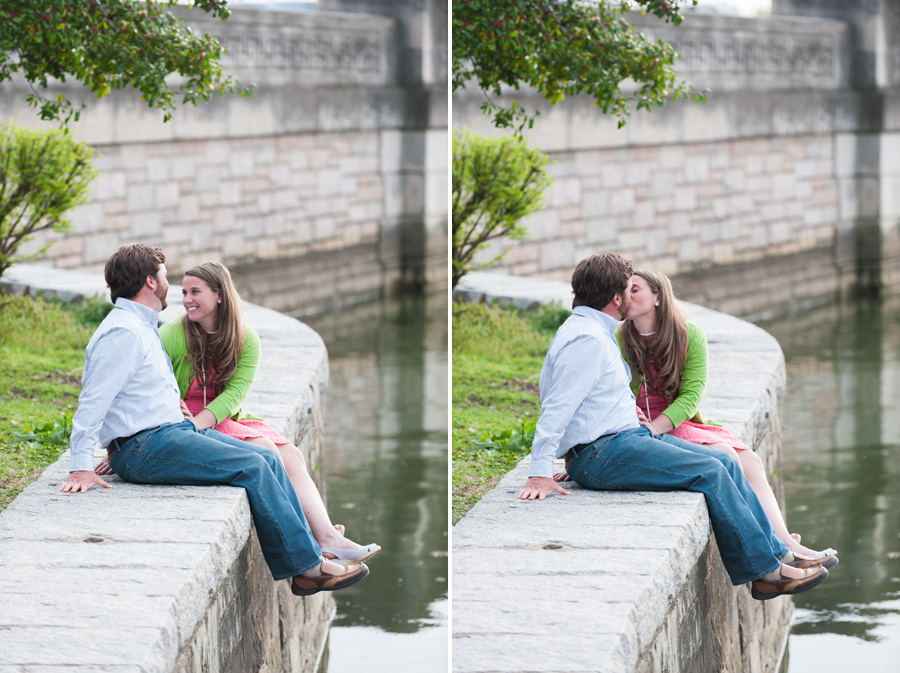
[{"label": "smiling woman in green cardigan facing the man, left photo", "polygon": [[159,333],[185,416],[200,429],[214,428],[278,451],[325,558],[349,565],[374,556],[381,547],[358,545],[343,536],[343,526],[332,525],[300,450],[241,411],[256,376],[260,342],[256,332],[241,323],[241,298],[228,269],[216,262],[195,266],[185,273],[181,292],[186,315],[163,325]]}]

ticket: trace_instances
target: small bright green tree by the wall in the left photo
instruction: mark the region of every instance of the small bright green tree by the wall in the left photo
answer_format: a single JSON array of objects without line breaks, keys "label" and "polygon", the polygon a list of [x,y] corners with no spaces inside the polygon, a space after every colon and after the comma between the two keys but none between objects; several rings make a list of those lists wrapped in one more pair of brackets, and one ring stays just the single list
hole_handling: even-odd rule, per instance
[{"label": "small bright green tree by the wall in the left photo", "polygon": [[[71,228],[64,214],[88,200],[97,176],[93,156],[86,143],[63,131],[0,126],[0,276],[33,234]],[[19,259],[37,257],[49,247]]]}]

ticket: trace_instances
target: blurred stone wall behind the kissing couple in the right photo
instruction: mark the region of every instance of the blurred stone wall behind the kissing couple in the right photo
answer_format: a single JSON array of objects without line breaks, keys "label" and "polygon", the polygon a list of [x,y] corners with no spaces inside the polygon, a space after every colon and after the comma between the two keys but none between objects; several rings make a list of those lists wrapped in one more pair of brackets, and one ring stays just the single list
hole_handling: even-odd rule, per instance
[{"label": "blurred stone wall behind the kissing couple in the right photo", "polygon": [[[584,98],[517,96],[541,110],[525,135],[555,184],[526,222],[532,239],[481,259],[509,247],[503,272],[562,280],[591,252],[620,252],[673,276],[683,298],[742,315],[900,287],[900,96],[860,88],[864,26],[846,19],[632,17],[676,47],[679,76],[707,101],[636,111],[617,129]],[[900,39],[900,23],[879,25]],[[454,128],[496,133],[479,104],[454,94]],[[750,290],[781,274],[775,294]]]}]

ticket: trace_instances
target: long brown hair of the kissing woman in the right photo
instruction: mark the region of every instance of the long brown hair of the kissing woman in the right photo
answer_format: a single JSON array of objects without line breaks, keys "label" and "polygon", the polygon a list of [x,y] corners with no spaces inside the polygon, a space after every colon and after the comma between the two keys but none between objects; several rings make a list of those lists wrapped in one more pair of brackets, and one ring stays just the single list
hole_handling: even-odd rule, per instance
[{"label": "long brown hair of the kissing woman in the right photo", "polygon": [[[672,283],[665,274],[639,269],[634,272],[647,281],[651,292],[659,295],[656,309],[656,333],[641,337],[634,322],[622,326],[622,351],[631,367],[631,375],[647,381],[649,392],[671,403],[681,386],[681,368],[687,350],[687,317],[678,306]],[[646,339],[646,346],[641,343]],[[650,376],[650,361],[656,367],[656,379]]]}]

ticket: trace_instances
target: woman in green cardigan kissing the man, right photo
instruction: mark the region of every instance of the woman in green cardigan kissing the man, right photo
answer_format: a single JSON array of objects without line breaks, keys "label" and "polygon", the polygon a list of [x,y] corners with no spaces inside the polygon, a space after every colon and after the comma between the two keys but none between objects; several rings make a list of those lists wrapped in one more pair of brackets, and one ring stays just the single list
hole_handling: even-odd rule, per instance
[{"label": "woman in green cardigan kissing the man, right photo", "polygon": [[[616,330],[616,339],[631,368],[641,425],[654,435],[670,433],[731,454],[791,553],[804,561],[834,557],[837,552],[833,549],[809,549],[800,544],[799,535],[788,532],[759,456],[725,428],[700,417],[708,375],[706,335],[679,309],[669,279],[653,271],[635,271],[627,292],[628,313]],[[836,563],[834,557],[822,565]]]}]

